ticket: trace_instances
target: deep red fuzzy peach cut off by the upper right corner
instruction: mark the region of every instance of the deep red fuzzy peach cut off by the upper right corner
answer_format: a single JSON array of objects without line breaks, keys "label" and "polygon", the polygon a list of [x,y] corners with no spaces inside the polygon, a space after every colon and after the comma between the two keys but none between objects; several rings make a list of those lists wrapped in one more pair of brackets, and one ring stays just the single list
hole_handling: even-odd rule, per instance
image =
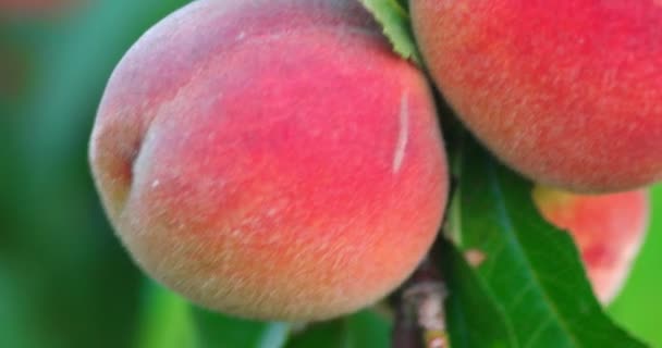
[{"label": "deep red fuzzy peach cut off by the upper right corner", "polygon": [[662,178],[662,1],[412,0],[437,86],[535,182],[580,192]]}]

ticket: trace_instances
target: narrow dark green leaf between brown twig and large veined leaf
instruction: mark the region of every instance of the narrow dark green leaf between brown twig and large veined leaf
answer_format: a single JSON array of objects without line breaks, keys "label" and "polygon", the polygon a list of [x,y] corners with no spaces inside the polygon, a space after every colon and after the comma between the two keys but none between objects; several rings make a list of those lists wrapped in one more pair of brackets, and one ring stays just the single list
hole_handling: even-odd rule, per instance
[{"label": "narrow dark green leaf between brown twig and large veined leaf", "polygon": [[513,327],[486,285],[450,243],[440,238],[432,253],[449,287],[446,320],[453,348],[516,347]]}]

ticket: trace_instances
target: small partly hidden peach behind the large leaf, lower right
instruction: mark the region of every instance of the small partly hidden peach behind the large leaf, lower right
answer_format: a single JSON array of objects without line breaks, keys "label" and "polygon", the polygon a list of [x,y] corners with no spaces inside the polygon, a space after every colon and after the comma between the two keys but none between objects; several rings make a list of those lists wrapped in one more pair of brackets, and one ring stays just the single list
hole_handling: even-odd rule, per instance
[{"label": "small partly hidden peach behind the large leaf, lower right", "polygon": [[648,192],[584,196],[538,186],[534,200],[547,220],[569,232],[596,295],[601,302],[611,302],[645,239]]}]

